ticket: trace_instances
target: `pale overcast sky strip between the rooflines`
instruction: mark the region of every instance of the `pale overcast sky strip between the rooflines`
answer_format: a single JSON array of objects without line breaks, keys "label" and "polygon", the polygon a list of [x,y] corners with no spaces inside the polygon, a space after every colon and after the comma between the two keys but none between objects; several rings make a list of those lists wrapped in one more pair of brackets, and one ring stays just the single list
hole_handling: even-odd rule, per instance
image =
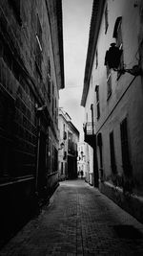
[{"label": "pale overcast sky strip between the rooflines", "polygon": [[[60,107],[82,133],[84,107],[80,105],[88,50],[92,0],[63,0],[65,89],[60,90]],[[82,137],[82,136],[81,136]]]}]

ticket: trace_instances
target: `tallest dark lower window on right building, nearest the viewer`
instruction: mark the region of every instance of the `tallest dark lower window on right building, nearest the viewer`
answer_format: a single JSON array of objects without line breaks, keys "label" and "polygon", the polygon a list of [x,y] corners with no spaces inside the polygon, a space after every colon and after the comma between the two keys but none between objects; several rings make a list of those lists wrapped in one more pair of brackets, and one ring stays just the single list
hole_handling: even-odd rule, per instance
[{"label": "tallest dark lower window on right building, nearest the viewer", "polygon": [[120,124],[120,133],[123,170],[125,175],[129,175],[131,173],[131,161],[128,144],[127,118],[125,118]]}]

